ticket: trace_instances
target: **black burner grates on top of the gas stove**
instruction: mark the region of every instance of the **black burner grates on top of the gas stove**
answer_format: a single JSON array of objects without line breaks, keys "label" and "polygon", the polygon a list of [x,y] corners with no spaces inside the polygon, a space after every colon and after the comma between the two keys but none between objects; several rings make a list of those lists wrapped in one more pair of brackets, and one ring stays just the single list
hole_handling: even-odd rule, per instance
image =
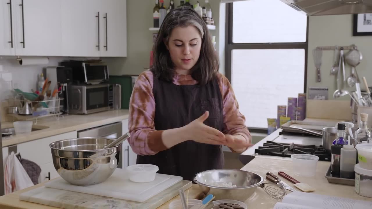
[{"label": "black burner grates on top of the gas stove", "polygon": [[255,154],[271,155],[278,157],[291,157],[292,154],[310,154],[319,157],[322,161],[331,161],[330,154],[320,145],[302,145],[295,143],[278,143],[274,141],[266,141],[262,146],[254,149]]}]

